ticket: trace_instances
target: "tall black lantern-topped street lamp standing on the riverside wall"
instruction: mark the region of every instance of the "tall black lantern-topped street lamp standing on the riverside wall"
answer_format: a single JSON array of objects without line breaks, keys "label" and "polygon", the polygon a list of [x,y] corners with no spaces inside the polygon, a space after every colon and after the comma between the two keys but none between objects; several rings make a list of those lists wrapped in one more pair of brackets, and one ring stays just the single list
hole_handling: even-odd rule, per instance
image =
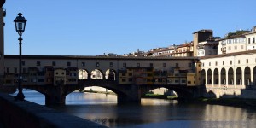
[{"label": "tall black lantern-topped street lamp standing on the riverside wall", "polygon": [[18,89],[19,89],[19,92],[17,94],[17,96],[15,96],[15,100],[19,100],[19,101],[23,101],[25,96],[22,92],[22,75],[21,75],[21,41],[22,41],[22,33],[25,31],[25,26],[26,26],[26,19],[21,16],[22,14],[19,13],[18,14],[19,16],[16,17],[16,19],[14,20],[15,22],[15,29],[16,29],[16,32],[18,32],[20,38],[18,38],[18,40],[20,41],[20,57],[19,57],[19,86],[18,86]]}]

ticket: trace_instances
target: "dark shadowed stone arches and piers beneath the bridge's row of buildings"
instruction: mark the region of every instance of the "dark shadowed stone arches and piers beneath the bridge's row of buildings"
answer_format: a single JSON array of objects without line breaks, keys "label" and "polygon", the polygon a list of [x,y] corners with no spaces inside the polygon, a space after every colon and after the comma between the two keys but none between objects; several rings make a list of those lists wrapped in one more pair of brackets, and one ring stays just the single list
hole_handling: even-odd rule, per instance
[{"label": "dark shadowed stone arches and piers beneath the bridge's row of buildings", "polygon": [[66,96],[74,90],[84,89],[84,87],[99,86],[112,90],[118,98],[118,103],[141,102],[141,96],[149,90],[166,88],[177,92],[179,98],[191,98],[199,96],[198,87],[188,87],[185,85],[168,84],[117,84],[116,81],[91,79],[79,80],[78,84],[58,84],[58,85],[23,85],[23,88],[36,90],[45,96],[45,104],[65,104]]}]

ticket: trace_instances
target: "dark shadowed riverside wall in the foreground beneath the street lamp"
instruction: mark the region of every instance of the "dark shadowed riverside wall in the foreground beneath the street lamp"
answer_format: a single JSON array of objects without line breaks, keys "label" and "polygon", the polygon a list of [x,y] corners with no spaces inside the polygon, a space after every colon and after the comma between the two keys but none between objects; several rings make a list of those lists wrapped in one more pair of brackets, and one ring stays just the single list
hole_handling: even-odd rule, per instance
[{"label": "dark shadowed riverside wall in the foreground beneath the street lamp", "polygon": [[15,101],[13,96],[3,93],[0,93],[0,122],[3,127],[19,128],[105,127],[34,102]]}]

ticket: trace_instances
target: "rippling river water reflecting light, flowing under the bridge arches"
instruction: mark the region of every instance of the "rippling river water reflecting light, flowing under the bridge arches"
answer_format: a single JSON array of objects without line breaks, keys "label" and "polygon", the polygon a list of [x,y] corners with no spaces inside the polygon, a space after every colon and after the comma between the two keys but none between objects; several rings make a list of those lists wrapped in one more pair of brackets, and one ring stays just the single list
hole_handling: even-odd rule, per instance
[{"label": "rippling river water reflecting light, flowing under the bridge arches", "polygon": [[[44,95],[24,90],[27,101],[44,105]],[[73,92],[65,106],[53,106],[61,112],[89,119],[108,127],[255,127],[256,108],[178,103],[162,99],[142,99],[141,105],[117,105],[117,96]]]}]

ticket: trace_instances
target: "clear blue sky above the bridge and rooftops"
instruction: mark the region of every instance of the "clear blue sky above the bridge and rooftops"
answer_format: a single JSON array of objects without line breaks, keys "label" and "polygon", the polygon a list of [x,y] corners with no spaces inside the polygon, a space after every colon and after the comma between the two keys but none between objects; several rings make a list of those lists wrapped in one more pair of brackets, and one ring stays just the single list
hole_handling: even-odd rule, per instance
[{"label": "clear blue sky above the bridge and rooftops", "polygon": [[5,54],[19,54],[15,17],[27,20],[24,55],[126,54],[224,37],[256,26],[256,0],[6,0]]}]

